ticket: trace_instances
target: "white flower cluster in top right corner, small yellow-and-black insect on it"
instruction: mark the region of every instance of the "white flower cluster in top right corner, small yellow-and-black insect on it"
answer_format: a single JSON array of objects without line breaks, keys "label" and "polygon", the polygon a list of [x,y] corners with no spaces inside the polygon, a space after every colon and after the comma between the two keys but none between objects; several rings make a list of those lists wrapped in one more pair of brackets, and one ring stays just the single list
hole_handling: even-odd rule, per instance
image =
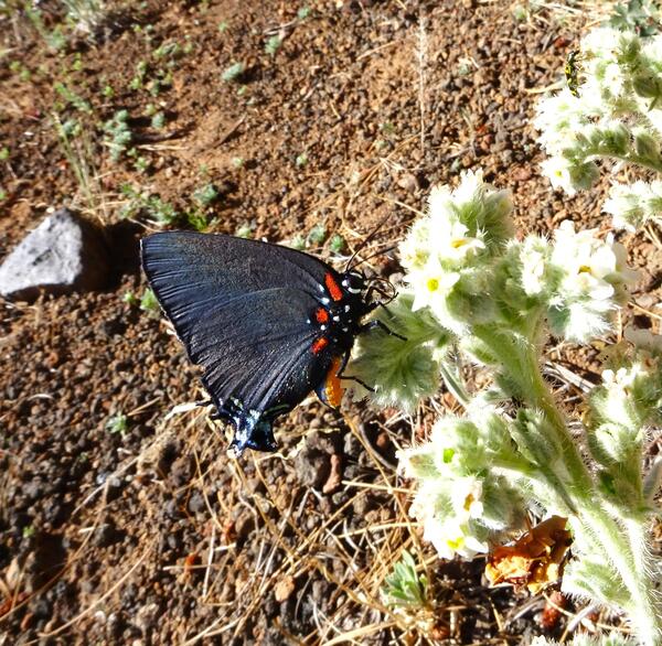
[{"label": "white flower cluster in top right corner, small yellow-and-black insect on it", "polygon": [[[543,99],[534,119],[552,185],[570,195],[590,187],[600,158],[662,171],[662,35],[597,28],[577,58],[581,84]],[[605,211],[633,230],[659,217],[659,193],[658,183],[615,185]]]}]

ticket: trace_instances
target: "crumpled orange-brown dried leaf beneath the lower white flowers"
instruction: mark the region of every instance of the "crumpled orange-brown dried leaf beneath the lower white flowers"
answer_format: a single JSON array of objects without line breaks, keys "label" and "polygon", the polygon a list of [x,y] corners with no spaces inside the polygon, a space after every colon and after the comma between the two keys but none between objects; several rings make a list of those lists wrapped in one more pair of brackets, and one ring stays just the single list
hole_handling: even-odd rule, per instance
[{"label": "crumpled orange-brown dried leaf beneath the lower white flowers", "polygon": [[485,566],[492,585],[526,585],[537,594],[563,574],[563,561],[573,542],[567,518],[552,516],[532,527],[512,546],[498,547]]}]

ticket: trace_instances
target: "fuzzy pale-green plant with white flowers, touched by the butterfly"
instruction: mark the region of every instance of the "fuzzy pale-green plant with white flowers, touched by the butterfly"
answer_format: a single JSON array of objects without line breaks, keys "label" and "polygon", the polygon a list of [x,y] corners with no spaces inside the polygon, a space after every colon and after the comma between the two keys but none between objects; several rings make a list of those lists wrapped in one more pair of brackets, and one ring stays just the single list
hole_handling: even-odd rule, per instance
[{"label": "fuzzy pale-green plant with white flowers, touched by the butterfly", "polygon": [[[431,191],[401,246],[406,288],[378,314],[407,341],[366,335],[353,374],[374,384],[375,401],[405,410],[433,395],[440,375],[465,408],[399,453],[416,481],[412,514],[441,557],[491,551],[525,529],[528,513],[567,519],[563,589],[622,609],[643,644],[659,644],[660,570],[647,529],[662,461],[645,477],[642,465],[647,433],[662,423],[662,338],[630,331],[586,414],[572,418],[543,378],[544,342],[608,332],[636,273],[611,236],[564,222],[552,239],[517,240],[511,212],[509,193],[480,172]],[[460,356],[484,366],[491,386],[470,392]]]}]

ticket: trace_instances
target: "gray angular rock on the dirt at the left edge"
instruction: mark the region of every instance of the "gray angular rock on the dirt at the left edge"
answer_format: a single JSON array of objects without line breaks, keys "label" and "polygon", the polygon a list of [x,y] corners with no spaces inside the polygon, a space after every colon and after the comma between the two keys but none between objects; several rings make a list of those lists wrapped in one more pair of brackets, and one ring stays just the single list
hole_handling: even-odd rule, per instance
[{"label": "gray angular rock on the dirt at the left edge", "polygon": [[34,300],[41,291],[63,294],[105,286],[108,251],[102,233],[67,208],[28,234],[0,265],[0,294]]}]

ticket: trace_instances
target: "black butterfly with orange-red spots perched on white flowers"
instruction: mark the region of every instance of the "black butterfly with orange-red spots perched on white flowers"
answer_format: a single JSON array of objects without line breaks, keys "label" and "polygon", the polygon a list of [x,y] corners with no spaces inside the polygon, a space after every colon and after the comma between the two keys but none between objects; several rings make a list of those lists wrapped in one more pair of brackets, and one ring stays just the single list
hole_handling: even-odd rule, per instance
[{"label": "black butterfly with orange-red spots perched on white flowers", "polygon": [[204,368],[217,417],[235,427],[235,455],[246,446],[275,451],[274,420],[311,390],[339,406],[354,338],[383,327],[361,322],[383,304],[373,295],[395,295],[380,287],[384,279],[339,273],[308,254],[233,236],[153,234],[141,255],[189,357]]}]

